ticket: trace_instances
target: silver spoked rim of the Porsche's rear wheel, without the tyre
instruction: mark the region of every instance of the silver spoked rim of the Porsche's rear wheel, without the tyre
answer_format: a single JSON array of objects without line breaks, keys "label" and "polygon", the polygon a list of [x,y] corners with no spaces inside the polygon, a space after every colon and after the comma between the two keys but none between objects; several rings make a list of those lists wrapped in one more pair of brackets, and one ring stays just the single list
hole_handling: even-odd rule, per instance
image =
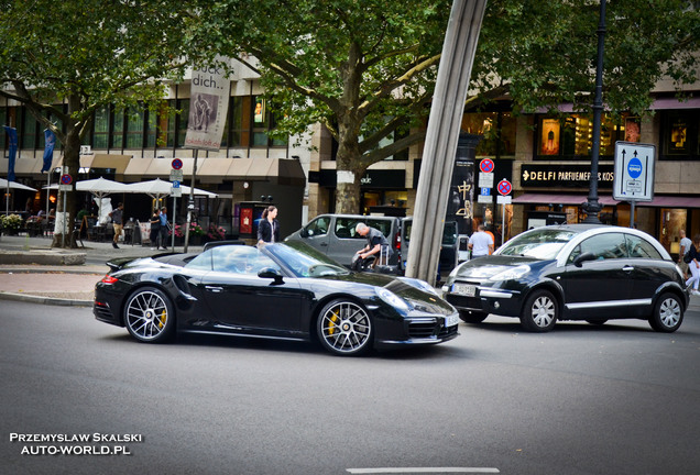
[{"label": "silver spoked rim of the Porsche's rear wheel, without the tyre", "polygon": [[165,299],[153,290],[134,294],[125,309],[129,332],[141,341],[155,341],[167,330],[171,318]]}]

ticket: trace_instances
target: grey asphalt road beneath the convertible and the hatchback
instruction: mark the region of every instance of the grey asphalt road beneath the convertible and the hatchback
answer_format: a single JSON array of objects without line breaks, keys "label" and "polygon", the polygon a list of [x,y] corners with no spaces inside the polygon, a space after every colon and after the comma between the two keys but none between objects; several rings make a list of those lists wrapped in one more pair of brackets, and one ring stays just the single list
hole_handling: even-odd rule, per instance
[{"label": "grey asphalt road beneath the convertible and the hatchback", "polygon": [[[140,344],[90,309],[13,301],[0,329],[3,474],[700,467],[699,312],[674,334],[642,321],[528,334],[491,317],[444,345],[360,358],[263,340]],[[129,454],[87,454],[116,448]]]}]

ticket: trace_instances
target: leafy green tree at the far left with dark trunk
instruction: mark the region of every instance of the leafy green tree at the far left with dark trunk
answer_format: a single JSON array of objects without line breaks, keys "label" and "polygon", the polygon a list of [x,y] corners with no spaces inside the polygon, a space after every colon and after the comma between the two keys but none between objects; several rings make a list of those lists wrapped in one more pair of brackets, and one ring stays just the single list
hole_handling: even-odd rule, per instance
[{"label": "leafy green tree at the far left with dark trunk", "polygon": [[[2,2],[0,95],[25,104],[56,134],[72,176],[77,176],[80,144],[96,110],[156,108],[165,81],[182,77],[186,32],[196,21],[183,3],[193,5],[173,0]],[[67,195],[70,223],[76,198]]]}]

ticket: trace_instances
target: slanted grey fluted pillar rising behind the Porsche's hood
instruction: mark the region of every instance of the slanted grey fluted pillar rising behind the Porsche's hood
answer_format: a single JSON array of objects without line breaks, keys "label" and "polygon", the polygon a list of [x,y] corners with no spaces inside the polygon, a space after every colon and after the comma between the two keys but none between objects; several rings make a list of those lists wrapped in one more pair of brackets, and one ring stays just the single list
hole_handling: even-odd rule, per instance
[{"label": "slanted grey fluted pillar rising behind the Porsche's hood", "polygon": [[471,67],[486,0],[455,0],[430,108],[406,275],[435,281]]}]

